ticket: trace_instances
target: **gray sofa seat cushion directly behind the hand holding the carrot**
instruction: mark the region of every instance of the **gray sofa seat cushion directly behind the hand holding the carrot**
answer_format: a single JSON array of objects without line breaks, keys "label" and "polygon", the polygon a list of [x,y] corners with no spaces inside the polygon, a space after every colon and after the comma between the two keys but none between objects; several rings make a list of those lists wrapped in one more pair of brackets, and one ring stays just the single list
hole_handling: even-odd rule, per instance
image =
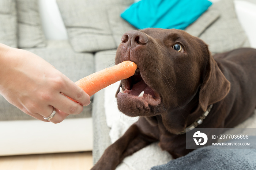
[{"label": "gray sofa seat cushion directly behind the hand holding the carrot", "polygon": [[[56,46],[62,44],[64,47]],[[94,73],[94,57],[91,53],[75,53],[68,47],[67,40],[54,40],[47,48],[26,49],[44,58],[47,62],[56,67],[72,81],[77,81],[89,74]],[[84,107],[79,115],[70,115],[67,118],[91,117],[92,104]],[[34,118],[23,113],[15,106],[8,103],[0,95],[0,121],[6,120],[33,120]]]}]

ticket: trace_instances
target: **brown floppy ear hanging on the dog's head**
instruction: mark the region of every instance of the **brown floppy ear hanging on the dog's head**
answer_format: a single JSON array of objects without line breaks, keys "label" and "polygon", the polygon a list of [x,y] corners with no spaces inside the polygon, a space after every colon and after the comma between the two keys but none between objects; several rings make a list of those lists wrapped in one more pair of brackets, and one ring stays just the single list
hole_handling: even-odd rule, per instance
[{"label": "brown floppy ear hanging on the dog's head", "polygon": [[230,90],[230,82],[219,69],[217,62],[209,54],[206,74],[199,92],[199,104],[203,111],[208,105],[222,100]]}]

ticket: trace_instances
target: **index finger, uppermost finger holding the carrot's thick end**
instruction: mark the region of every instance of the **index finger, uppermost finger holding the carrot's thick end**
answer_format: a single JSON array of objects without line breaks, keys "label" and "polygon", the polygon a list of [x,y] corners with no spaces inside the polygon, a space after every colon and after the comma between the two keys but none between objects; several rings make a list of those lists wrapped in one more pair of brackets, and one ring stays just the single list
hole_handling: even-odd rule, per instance
[{"label": "index finger, uppermost finger holding the carrot's thick end", "polygon": [[84,92],[79,86],[67,78],[66,86],[61,93],[72,98],[75,101],[78,101],[81,105],[87,106],[91,103],[90,96]]}]

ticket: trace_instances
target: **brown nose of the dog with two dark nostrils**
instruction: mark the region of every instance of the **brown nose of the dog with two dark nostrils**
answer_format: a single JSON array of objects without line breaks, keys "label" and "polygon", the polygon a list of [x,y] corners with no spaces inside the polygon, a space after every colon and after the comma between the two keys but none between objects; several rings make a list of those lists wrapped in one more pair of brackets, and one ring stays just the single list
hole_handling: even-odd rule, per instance
[{"label": "brown nose of the dog with two dark nostrils", "polygon": [[148,41],[146,34],[140,31],[127,31],[122,36],[121,41],[132,47],[145,45]]}]

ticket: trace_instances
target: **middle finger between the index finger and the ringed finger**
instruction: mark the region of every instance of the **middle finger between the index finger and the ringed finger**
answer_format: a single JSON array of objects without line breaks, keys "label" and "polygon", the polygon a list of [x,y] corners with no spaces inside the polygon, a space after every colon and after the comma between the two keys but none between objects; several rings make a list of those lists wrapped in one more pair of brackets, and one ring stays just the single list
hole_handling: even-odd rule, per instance
[{"label": "middle finger between the index finger and the ringed finger", "polygon": [[56,100],[52,101],[51,105],[69,115],[78,115],[83,111],[83,106],[81,104],[70,100],[61,93],[57,95]]}]

